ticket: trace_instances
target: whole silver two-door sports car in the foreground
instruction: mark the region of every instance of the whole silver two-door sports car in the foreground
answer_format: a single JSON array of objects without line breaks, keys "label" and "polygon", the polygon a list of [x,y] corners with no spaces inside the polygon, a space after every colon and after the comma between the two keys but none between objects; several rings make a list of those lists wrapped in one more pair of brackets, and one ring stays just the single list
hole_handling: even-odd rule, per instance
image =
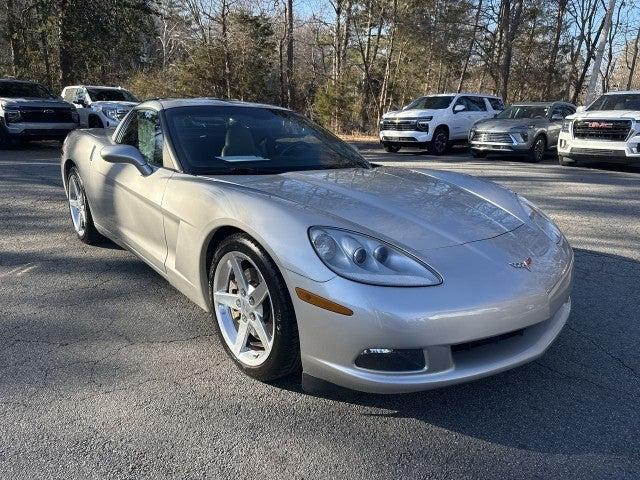
[{"label": "whole silver two-door sports car in the foreground", "polygon": [[571,247],[493,183],[370,164],[268,105],[148,101],[111,133],[64,144],[77,236],[212,312],[257,379],[440,387],[539,357],[569,316]]}]

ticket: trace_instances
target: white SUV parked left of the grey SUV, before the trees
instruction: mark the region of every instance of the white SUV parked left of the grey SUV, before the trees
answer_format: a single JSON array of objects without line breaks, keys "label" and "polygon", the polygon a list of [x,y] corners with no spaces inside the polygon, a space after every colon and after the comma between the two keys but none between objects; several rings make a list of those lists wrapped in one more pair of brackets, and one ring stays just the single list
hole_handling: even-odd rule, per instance
[{"label": "white SUV parked left of the grey SUV, before the trees", "polygon": [[387,152],[402,147],[428,148],[442,155],[453,142],[466,142],[471,126],[504,109],[499,97],[446,93],[420,97],[380,122],[380,143]]}]

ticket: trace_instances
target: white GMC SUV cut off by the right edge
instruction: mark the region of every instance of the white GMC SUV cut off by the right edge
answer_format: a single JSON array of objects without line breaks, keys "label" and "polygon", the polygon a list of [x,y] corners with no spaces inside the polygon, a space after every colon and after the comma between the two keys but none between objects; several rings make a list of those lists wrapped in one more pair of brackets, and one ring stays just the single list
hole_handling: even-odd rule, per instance
[{"label": "white GMC SUV cut off by the right edge", "polygon": [[602,95],[562,124],[561,165],[640,162],[640,91]]}]

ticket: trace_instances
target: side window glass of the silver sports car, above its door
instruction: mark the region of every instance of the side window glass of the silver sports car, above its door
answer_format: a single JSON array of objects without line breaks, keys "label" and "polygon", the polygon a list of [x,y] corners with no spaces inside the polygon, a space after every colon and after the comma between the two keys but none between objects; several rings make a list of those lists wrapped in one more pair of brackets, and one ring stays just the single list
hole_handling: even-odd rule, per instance
[{"label": "side window glass of the silver sports car, above its door", "polygon": [[162,166],[164,136],[160,117],[155,110],[136,110],[124,127],[119,143],[132,145],[140,150],[151,165]]}]

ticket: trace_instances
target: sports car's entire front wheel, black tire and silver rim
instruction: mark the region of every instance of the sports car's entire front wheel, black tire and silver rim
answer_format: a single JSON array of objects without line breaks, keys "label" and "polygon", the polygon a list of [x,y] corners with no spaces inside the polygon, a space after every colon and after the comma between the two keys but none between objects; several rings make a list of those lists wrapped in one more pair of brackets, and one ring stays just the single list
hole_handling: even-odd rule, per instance
[{"label": "sports car's entire front wheel, black tire and silver rim", "polygon": [[244,373],[268,382],[300,369],[287,286],[253,239],[234,234],[222,241],[211,262],[209,288],[218,336]]}]

